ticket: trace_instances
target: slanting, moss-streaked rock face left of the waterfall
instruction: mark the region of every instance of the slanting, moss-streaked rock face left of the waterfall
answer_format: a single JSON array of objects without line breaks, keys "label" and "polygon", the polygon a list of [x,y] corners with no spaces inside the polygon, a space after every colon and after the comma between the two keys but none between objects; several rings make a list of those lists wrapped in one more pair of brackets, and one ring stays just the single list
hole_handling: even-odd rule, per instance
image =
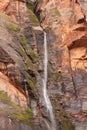
[{"label": "slanting, moss-streaked rock face left of the waterfall", "polygon": [[39,21],[24,1],[0,5],[0,130],[32,130],[30,107],[33,101],[37,107],[39,75],[35,36],[39,34],[34,28]]}]

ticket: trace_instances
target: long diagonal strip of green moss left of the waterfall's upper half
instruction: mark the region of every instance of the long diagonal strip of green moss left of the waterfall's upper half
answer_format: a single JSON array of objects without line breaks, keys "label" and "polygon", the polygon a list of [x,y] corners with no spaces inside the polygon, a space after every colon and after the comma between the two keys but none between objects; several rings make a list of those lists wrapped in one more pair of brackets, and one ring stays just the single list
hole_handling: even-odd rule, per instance
[{"label": "long diagonal strip of green moss left of the waterfall's upper half", "polygon": [[37,57],[33,49],[28,44],[28,41],[25,36],[20,36],[19,42],[21,44],[19,45],[18,52],[23,59],[24,75],[31,90],[34,90],[35,79],[33,79],[33,77],[29,74],[29,70],[32,70],[34,73],[36,73],[36,68],[32,62],[35,61]]}]

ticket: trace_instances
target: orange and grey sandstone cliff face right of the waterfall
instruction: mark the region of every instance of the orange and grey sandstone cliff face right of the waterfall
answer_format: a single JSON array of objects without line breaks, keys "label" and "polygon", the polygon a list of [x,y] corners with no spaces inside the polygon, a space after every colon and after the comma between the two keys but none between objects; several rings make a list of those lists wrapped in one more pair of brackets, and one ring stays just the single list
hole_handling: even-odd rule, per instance
[{"label": "orange and grey sandstone cliff face right of the waterfall", "polygon": [[[62,130],[87,129],[86,5],[85,0],[42,1],[37,11],[48,34],[48,89]],[[60,114],[61,104],[74,128]]]}]

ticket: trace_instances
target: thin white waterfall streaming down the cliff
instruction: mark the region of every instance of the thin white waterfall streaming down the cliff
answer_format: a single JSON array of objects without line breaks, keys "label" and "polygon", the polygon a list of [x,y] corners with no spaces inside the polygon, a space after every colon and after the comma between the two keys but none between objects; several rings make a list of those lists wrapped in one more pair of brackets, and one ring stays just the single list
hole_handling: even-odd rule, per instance
[{"label": "thin white waterfall streaming down the cliff", "polygon": [[47,113],[50,116],[51,124],[47,124],[49,130],[56,130],[56,123],[54,120],[53,109],[51,105],[51,101],[47,94],[47,65],[48,65],[48,54],[47,54],[47,37],[46,32],[44,32],[44,79],[43,79],[43,97],[45,102],[45,107],[47,109]]}]

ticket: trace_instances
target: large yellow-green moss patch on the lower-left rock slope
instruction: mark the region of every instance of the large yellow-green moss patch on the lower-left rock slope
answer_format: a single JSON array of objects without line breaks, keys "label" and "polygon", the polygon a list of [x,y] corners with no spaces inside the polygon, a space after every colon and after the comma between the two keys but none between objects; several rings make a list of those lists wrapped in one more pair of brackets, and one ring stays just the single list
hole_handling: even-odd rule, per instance
[{"label": "large yellow-green moss patch on the lower-left rock slope", "polygon": [[[18,121],[23,121],[27,125],[31,125],[33,121],[33,113],[30,108],[25,108],[25,111],[15,103],[13,103],[10,97],[4,91],[0,91],[0,100],[12,107],[12,110],[5,110],[3,112],[8,112],[13,118]],[[0,110],[1,111],[1,110]]]}]

